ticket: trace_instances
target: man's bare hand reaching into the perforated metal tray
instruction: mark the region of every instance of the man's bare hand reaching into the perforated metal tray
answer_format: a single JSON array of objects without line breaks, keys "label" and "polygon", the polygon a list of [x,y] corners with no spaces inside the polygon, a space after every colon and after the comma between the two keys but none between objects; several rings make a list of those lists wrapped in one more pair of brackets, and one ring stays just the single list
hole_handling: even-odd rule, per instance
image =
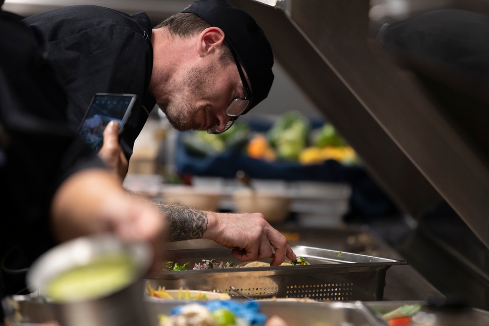
[{"label": "man's bare hand reaching into the perforated metal tray", "polygon": [[277,266],[286,257],[291,261],[297,258],[285,236],[268,224],[261,213],[206,213],[209,225],[202,238],[235,248],[232,254],[240,261],[273,258],[270,265]]}]

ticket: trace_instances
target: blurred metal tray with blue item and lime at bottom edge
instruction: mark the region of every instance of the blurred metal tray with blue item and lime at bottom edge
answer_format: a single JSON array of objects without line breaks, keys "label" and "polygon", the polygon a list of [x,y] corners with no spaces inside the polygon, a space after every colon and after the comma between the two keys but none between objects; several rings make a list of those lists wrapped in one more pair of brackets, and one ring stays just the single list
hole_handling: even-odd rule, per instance
[{"label": "blurred metal tray with blue item and lime at bottom edge", "polygon": [[[201,308],[204,307],[204,309]],[[150,324],[159,326],[175,325],[240,325],[240,326],[385,326],[376,319],[360,302],[334,302],[330,304],[291,303],[291,302],[211,302],[196,306],[195,304],[178,305],[172,303],[148,303]],[[208,309],[208,312],[205,310]],[[183,310],[183,311],[182,311]],[[210,321],[194,324],[172,323],[185,314],[195,319]],[[222,320],[222,310],[229,311],[226,323]],[[218,311],[219,313],[216,313]],[[211,316],[216,316],[218,322],[212,324]],[[179,319],[182,322],[182,319]]]}]

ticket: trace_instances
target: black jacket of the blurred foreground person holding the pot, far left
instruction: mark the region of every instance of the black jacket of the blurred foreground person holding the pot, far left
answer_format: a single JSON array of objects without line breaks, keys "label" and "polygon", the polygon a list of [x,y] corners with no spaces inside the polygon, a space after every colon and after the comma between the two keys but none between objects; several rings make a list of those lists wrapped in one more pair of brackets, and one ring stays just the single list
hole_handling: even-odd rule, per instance
[{"label": "black jacket of the blurred foreground person holding the pot, far left", "polygon": [[59,184],[104,166],[68,128],[65,107],[32,32],[0,10],[0,299],[25,293],[25,269],[55,245],[48,212]]}]

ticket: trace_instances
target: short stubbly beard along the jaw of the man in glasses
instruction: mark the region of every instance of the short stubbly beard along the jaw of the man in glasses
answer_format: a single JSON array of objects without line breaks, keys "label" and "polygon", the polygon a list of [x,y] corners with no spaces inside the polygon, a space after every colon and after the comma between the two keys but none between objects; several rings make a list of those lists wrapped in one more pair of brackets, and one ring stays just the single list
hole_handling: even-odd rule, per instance
[{"label": "short stubbly beard along the jaw of the man in glasses", "polygon": [[[200,67],[191,67],[187,69],[182,82],[185,91],[178,94],[177,99],[172,101],[165,108],[166,117],[173,128],[178,131],[197,130],[200,124],[194,122],[194,115],[198,109],[195,107],[193,100],[201,99],[205,96],[203,91],[206,85],[205,76],[207,75]],[[192,98],[186,96],[192,94]]]}]

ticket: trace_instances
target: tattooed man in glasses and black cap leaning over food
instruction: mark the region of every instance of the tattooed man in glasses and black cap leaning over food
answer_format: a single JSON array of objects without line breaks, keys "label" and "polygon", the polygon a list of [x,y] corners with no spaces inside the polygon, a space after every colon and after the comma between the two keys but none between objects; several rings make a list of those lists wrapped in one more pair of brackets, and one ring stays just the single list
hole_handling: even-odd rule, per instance
[{"label": "tattooed man in glasses and black cap leaning over food", "polygon": [[[273,56],[263,31],[224,0],[198,0],[155,29],[145,13],[129,16],[86,5],[23,22],[43,44],[67,90],[73,130],[96,92],[137,95],[120,146],[116,130],[108,129],[99,152],[121,180],[134,140],[156,103],[178,130],[222,132],[267,97],[273,81]],[[212,239],[238,248],[233,254],[240,260],[274,257],[272,265],[286,255],[295,257],[262,214],[219,214],[173,205],[160,209],[170,218],[170,240]]]}]

